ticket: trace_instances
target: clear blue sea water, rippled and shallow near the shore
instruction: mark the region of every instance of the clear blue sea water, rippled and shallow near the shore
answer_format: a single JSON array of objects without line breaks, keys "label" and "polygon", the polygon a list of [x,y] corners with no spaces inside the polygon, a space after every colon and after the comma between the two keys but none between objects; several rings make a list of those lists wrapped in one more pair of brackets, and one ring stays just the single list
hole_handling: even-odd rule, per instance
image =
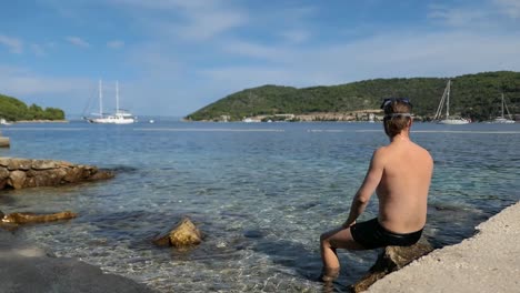
[{"label": "clear blue sea water, rippled and shallow near the shore", "polygon": [[[19,233],[162,292],[320,292],[320,233],[342,223],[373,150],[369,123],[14,124],[1,156],[67,160],[117,170],[110,181],[0,194],[3,212],[72,210],[66,223]],[[436,246],[520,200],[520,124],[417,123],[436,161],[426,235]],[[374,216],[373,199],[363,219]],[[190,216],[206,234],[189,251],[150,240]],[[336,291],[377,252],[340,253]]]}]

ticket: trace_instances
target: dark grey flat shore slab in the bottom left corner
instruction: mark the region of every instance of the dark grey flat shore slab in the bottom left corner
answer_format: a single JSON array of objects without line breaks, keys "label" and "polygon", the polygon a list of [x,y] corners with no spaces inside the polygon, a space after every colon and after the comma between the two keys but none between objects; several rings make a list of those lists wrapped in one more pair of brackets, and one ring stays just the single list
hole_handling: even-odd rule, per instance
[{"label": "dark grey flat shore slab in the bottom left corner", "polygon": [[[153,293],[144,284],[70,257],[53,257],[0,229],[0,292]],[[136,279],[140,279],[136,275]],[[141,279],[142,280],[142,279]]]}]

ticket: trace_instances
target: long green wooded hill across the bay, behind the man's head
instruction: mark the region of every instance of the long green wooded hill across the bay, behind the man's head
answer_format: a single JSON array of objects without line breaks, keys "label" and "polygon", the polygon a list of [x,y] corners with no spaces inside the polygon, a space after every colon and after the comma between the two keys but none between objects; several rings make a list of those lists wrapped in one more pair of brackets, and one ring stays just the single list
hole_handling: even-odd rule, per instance
[{"label": "long green wooded hill across the bay, behind the man's head", "polygon": [[454,78],[374,79],[331,87],[297,89],[263,85],[246,89],[211,103],[187,120],[212,121],[228,115],[244,117],[311,114],[379,109],[383,98],[410,98],[417,115],[432,118],[448,80],[451,84],[450,113],[482,121],[500,112],[503,92],[511,113],[520,113],[520,72],[498,71]]}]

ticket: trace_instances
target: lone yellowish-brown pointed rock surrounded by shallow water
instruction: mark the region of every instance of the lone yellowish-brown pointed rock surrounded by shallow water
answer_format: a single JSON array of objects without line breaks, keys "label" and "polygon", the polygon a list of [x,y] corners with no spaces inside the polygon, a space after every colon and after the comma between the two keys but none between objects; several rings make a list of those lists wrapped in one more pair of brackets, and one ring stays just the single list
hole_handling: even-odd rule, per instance
[{"label": "lone yellowish-brown pointed rock surrounded by shallow water", "polygon": [[176,247],[189,247],[202,242],[202,233],[189,218],[183,218],[177,226],[162,235],[157,236],[153,243],[157,245],[171,245]]}]

